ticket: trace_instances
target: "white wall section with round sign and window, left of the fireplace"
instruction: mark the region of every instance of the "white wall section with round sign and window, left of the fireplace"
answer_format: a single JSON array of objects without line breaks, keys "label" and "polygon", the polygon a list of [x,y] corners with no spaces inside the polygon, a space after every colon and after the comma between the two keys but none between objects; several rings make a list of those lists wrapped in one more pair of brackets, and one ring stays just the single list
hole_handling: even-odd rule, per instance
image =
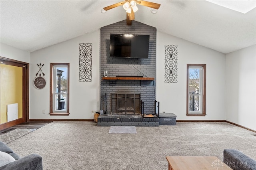
[{"label": "white wall section with round sign and window, left of the fireplace", "polygon": [[[79,43],[92,43],[92,82],[79,80]],[[31,53],[31,78],[36,77],[37,64],[44,64],[46,87],[36,89],[30,81],[30,119],[94,119],[100,110],[100,31],[58,43]],[[69,116],[50,116],[50,63],[70,63]],[[42,114],[42,110],[46,114]],[[93,113],[92,113],[93,112]]]}]

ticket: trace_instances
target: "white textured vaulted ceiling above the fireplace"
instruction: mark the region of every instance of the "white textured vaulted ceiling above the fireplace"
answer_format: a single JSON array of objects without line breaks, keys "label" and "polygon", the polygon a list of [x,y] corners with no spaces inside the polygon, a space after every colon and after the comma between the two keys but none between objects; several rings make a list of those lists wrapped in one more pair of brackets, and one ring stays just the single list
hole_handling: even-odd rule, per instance
[{"label": "white textured vaulted ceiling above the fireplace", "polygon": [[[100,12],[120,1],[1,0],[1,43],[35,51],[99,30],[126,20],[122,6]],[[135,20],[160,32],[222,53],[256,44],[255,8],[243,14],[205,0],[148,1],[161,4],[158,13],[138,5]]]}]

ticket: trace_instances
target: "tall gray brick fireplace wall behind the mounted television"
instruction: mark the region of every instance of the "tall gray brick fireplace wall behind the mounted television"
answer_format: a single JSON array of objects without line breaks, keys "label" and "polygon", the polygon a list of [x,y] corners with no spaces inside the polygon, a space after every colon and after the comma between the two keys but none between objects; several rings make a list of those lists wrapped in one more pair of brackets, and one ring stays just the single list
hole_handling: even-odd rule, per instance
[{"label": "tall gray brick fireplace wall behind the mounted television", "polygon": [[[110,57],[110,34],[144,34],[150,35],[148,58],[118,58]],[[108,71],[109,77],[116,76],[143,76],[156,77],[156,28],[132,21],[132,26],[126,26],[126,20],[117,22],[100,29],[100,91],[102,100],[100,109],[112,114],[136,115],[140,114],[140,100],[144,101],[144,113],[152,114],[155,112],[155,80],[105,80],[102,79],[104,71]],[[130,100],[127,95],[138,94],[134,100],[134,111],[119,108],[125,106],[124,102],[112,104],[118,96],[126,95],[126,101]],[[113,96],[114,95],[114,96]],[[132,101],[134,101],[132,100]],[[119,106],[118,106],[119,105]]]}]

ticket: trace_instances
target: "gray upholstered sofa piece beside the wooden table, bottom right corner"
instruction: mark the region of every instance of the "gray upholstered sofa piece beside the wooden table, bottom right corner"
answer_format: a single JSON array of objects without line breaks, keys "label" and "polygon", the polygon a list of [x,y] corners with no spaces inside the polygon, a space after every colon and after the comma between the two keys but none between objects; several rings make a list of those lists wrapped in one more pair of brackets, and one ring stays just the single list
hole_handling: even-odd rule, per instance
[{"label": "gray upholstered sofa piece beside the wooden table, bottom right corner", "polygon": [[223,162],[232,170],[256,170],[256,160],[235,149],[225,149]]}]

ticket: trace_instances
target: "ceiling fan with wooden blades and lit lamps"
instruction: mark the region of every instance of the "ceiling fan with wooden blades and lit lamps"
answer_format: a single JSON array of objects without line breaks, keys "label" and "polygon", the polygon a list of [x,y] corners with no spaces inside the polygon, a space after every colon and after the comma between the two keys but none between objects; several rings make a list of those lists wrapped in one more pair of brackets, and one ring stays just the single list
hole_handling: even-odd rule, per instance
[{"label": "ceiling fan with wooden blades and lit lamps", "polygon": [[107,11],[122,5],[123,8],[126,10],[126,25],[131,26],[132,20],[135,19],[134,12],[138,11],[137,4],[154,8],[156,10],[160,7],[160,4],[157,4],[154,2],[148,2],[144,0],[125,0],[122,2],[118,2],[116,4],[112,4],[110,6],[107,6],[103,9]]}]

